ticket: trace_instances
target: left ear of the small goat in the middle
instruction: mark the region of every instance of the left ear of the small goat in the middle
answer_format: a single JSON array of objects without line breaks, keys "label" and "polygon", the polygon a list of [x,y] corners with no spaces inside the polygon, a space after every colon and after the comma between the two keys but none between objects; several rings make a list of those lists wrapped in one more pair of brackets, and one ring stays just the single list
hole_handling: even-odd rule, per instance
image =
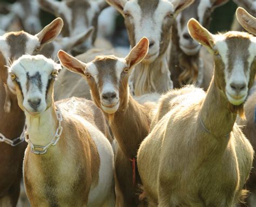
[{"label": "left ear of the small goat in the middle", "polygon": [[58,52],[58,58],[62,66],[70,70],[71,72],[84,75],[86,64],[77,60],[73,56],[64,51]]}]

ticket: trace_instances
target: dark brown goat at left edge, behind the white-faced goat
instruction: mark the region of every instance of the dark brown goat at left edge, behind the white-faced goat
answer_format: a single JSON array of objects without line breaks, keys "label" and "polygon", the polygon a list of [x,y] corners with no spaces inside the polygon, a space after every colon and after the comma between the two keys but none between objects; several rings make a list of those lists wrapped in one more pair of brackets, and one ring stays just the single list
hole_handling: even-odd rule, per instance
[{"label": "dark brown goat at left edge, behind the white-faced goat", "polygon": [[[25,53],[34,54],[40,51],[60,33],[62,26],[62,19],[57,18],[36,35],[21,31],[0,36],[0,150],[5,152],[0,155],[0,165],[5,166],[0,169],[0,176],[4,177],[0,180],[1,206],[16,206],[25,151],[25,142],[18,144],[22,139],[17,139],[23,132],[25,115],[18,107],[15,91],[7,85],[10,77],[5,66],[10,66],[10,61]],[[3,142],[3,137],[9,142]]]}]

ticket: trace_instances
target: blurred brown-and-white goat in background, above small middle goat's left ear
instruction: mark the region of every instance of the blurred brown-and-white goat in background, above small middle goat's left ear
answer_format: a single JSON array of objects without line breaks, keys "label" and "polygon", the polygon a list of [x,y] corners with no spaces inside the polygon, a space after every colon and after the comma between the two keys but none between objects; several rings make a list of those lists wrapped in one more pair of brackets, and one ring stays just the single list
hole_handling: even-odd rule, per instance
[{"label": "blurred brown-and-white goat in background, above small middle goat's left ear", "polygon": [[84,53],[88,48],[93,46],[97,37],[98,16],[107,7],[105,1],[38,1],[42,9],[63,19],[63,37],[73,37],[74,35],[87,31],[90,26],[95,28],[90,39],[80,44],[79,47],[73,48],[76,54]]}]

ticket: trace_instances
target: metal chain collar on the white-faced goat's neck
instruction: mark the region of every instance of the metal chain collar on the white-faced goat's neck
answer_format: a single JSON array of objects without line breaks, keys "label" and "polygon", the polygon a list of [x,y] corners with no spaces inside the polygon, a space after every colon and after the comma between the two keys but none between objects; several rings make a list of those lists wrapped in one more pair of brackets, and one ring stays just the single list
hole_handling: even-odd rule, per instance
[{"label": "metal chain collar on the white-faced goat's neck", "polygon": [[[29,139],[28,132],[25,131],[25,141],[28,142],[28,144],[30,145],[30,150],[33,154],[45,154],[47,152],[48,148],[50,148],[51,146],[55,146],[57,144],[57,142],[59,141],[60,135],[62,134],[62,131],[63,131],[63,127],[61,126],[61,122],[62,122],[63,118],[62,118],[62,114],[60,113],[58,107],[56,109],[56,116],[57,116],[57,120],[58,120],[58,128],[57,128],[55,135],[53,136],[51,142],[46,146],[33,145],[33,143]],[[41,149],[41,150],[37,150],[37,149]]]}]

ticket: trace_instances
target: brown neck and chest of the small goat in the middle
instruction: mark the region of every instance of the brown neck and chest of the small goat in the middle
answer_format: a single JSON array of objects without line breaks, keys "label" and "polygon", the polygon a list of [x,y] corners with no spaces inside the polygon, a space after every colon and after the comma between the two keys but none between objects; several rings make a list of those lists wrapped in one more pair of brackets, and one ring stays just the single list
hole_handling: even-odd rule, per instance
[{"label": "brown neck and chest of the small goat in the middle", "polygon": [[130,95],[114,115],[106,116],[123,153],[130,159],[134,158],[140,142],[149,133],[149,109],[138,104]]}]

